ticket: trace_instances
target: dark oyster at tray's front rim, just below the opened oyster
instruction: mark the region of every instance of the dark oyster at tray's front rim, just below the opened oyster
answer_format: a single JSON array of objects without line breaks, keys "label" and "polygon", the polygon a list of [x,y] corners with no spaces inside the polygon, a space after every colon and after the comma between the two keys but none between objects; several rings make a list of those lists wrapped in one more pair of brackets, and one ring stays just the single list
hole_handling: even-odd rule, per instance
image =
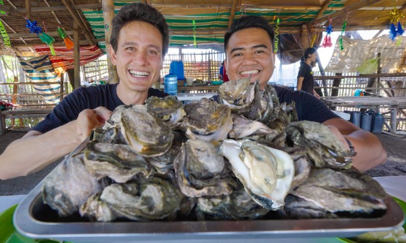
[{"label": "dark oyster at tray's front rim, just below the opened oyster", "polygon": [[230,195],[198,198],[199,220],[204,220],[205,216],[219,220],[258,219],[269,211],[256,203],[242,186]]}]

